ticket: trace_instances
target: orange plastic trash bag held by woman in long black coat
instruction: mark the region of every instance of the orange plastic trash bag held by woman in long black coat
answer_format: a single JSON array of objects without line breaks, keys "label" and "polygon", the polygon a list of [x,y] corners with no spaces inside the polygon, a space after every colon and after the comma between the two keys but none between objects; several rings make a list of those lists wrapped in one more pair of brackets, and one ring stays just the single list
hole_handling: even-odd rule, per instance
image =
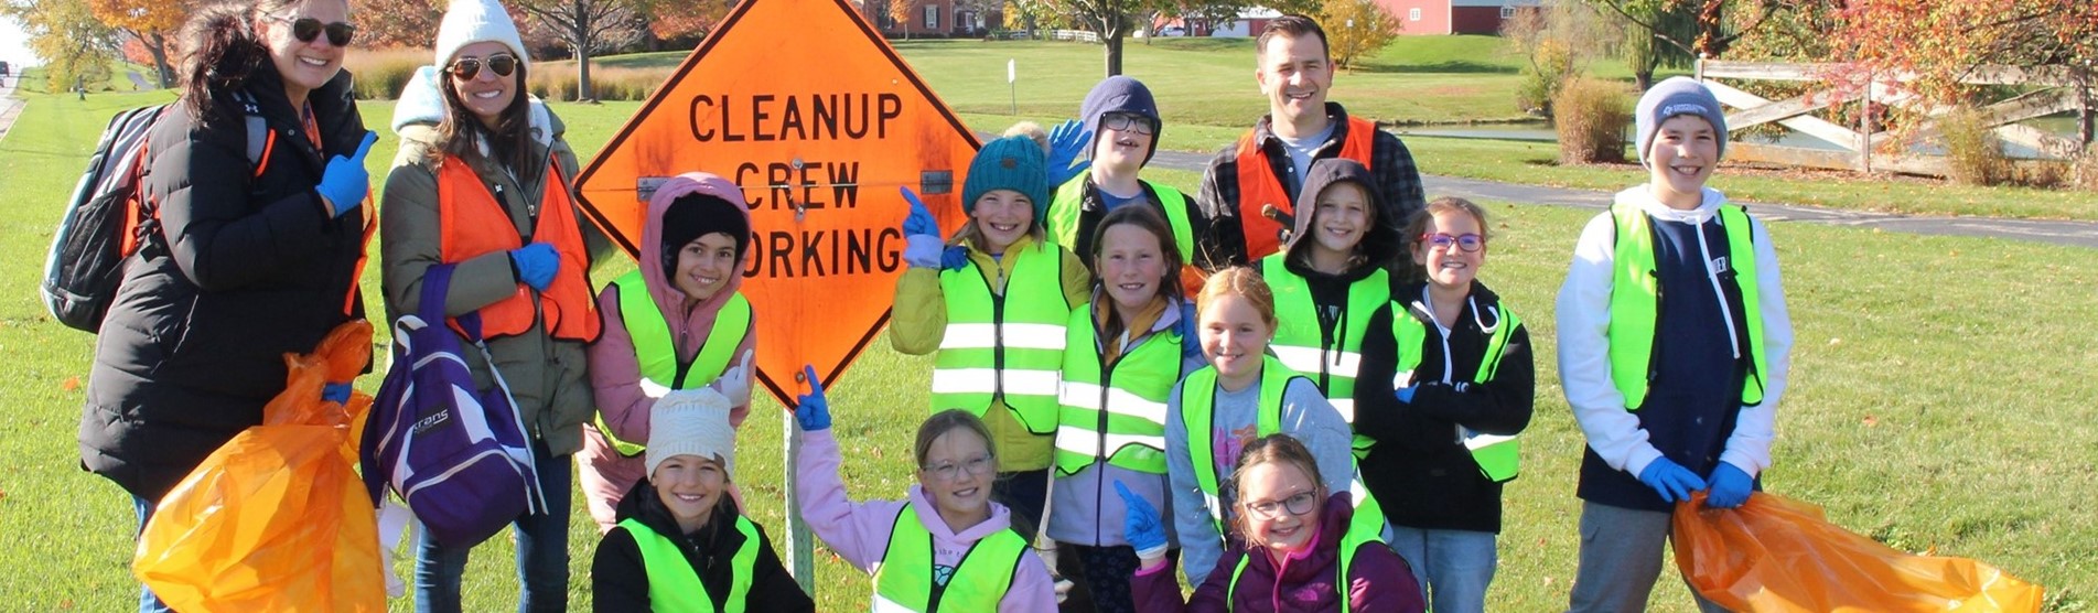
[{"label": "orange plastic trash bag held by woman in long black coat", "polygon": [[386,611],[378,519],[357,477],[369,395],[321,401],[355,380],[371,325],[336,327],[313,355],[285,355],[283,395],[159,502],[132,573],[174,611]]}]

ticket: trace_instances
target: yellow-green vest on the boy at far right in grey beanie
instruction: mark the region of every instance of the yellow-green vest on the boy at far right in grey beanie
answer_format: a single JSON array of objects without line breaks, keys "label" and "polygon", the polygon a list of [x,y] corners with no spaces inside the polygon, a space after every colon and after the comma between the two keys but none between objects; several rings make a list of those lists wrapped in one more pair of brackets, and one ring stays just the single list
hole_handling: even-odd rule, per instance
[{"label": "yellow-green vest on the boy at far right in grey beanie", "polygon": [[[1618,225],[1615,273],[1609,286],[1609,378],[1618,384],[1618,393],[1624,393],[1624,409],[1636,411],[1647,401],[1653,330],[1662,321],[1662,279],[1653,260],[1655,229],[1653,218],[1636,206],[1611,204],[1609,216]],[[1727,231],[1727,262],[1733,269],[1731,277],[1720,275],[1720,283],[1739,290],[1743,313],[1733,313],[1725,300],[1720,306],[1729,317],[1743,317],[1748,323],[1750,369],[1741,380],[1741,403],[1754,407],[1762,403],[1762,374],[1771,372],[1762,353],[1762,306],[1756,302],[1754,231],[1748,210],[1735,204],[1718,208],[1718,225]],[[1733,321],[1727,321],[1727,330],[1733,334]],[[1739,353],[1739,344],[1735,351]]]}]

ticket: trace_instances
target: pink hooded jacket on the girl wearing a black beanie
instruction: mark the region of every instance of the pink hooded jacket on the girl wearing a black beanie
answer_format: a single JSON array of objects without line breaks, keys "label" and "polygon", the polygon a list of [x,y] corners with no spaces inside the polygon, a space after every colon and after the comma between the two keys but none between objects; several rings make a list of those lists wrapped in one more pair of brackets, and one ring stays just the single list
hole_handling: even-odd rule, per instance
[{"label": "pink hooded jacket on the girl wearing a black beanie", "polygon": [[[667,183],[657,187],[655,197],[648,199],[648,223],[642,225],[642,256],[640,269],[642,279],[648,283],[648,294],[655,298],[657,309],[663,319],[671,325],[671,338],[678,344],[680,359],[692,359],[699,355],[701,344],[707,334],[713,332],[713,319],[728,302],[728,296],[743,288],[743,275],[730,275],[722,292],[711,298],[686,306],[684,292],[678,292],[669,283],[669,273],[663,271],[663,212],[669,204],[688,193],[705,193],[730,204],[745,204],[743,189],[728,178],[707,174],[707,172],[686,172],[671,176]],[[751,212],[743,212],[743,223],[749,225]],[[749,252],[738,258],[736,269],[743,269]],[[590,386],[594,388],[598,411],[604,414],[604,424],[613,428],[623,441],[648,441],[648,409],[655,407],[657,397],[642,390],[640,357],[634,355],[634,336],[627,334],[625,317],[619,313],[619,286],[604,286],[598,294],[598,313],[604,313],[604,334],[598,342],[590,344]],[[678,313],[684,313],[678,317]],[[755,317],[755,315],[753,315]],[[730,365],[745,351],[757,346],[755,327],[751,334],[743,336],[743,344],[730,353]],[[709,386],[720,388],[720,380]],[[730,397],[734,409],[728,414],[728,422],[743,426],[743,418],[751,411],[751,395]],[[634,489],[642,477],[646,477],[646,464],[642,458],[623,458],[613,443],[598,432],[596,422],[583,426],[583,451],[575,453],[575,462],[581,470],[583,498],[590,504],[590,516],[598,521],[598,531],[604,533],[619,523],[619,498]]]}]

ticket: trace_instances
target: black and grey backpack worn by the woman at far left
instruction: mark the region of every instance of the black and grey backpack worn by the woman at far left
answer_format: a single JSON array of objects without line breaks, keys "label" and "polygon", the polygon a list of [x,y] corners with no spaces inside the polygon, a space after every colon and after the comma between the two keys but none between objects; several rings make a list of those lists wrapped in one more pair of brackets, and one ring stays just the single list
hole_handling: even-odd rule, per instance
[{"label": "black and grey backpack worn by the woman at far left", "polygon": [[[235,92],[248,128],[248,164],[262,164],[275,134],[262,120],[262,107],[248,92]],[[103,128],[103,139],[80,172],[73,197],[65,204],[59,231],[50,237],[44,258],[44,309],[52,319],[73,330],[101,332],[103,315],[117,296],[124,260],[159,235],[157,210],[141,199],[138,185],[151,168],[147,134],[170,105],[122,111]]]}]

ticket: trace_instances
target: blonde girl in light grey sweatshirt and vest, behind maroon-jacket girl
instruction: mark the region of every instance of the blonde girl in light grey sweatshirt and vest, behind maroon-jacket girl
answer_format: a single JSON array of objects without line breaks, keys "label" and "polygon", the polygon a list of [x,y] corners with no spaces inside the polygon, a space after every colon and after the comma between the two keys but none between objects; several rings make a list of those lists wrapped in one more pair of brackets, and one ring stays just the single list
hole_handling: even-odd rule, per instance
[{"label": "blonde girl in light grey sweatshirt and vest, behind maroon-jacket girl", "polygon": [[1166,401],[1166,474],[1181,571],[1200,586],[1225,550],[1234,493],[1219,487],[1253,439],[1284,432],[1311,447],[1326,491],[1349,491],[1355,458],[1349,426],[1318,386],[1267,355],[1276,296],[1246,267],[1208,277],[1196,296],[1208,367],[1190,374]]}]

